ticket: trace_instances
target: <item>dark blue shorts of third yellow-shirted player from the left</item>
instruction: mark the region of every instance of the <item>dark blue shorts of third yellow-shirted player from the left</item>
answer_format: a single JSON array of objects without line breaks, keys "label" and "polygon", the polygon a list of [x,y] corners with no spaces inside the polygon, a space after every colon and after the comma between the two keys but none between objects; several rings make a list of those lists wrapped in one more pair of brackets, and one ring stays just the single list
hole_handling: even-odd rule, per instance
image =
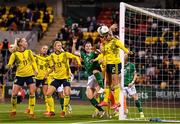
[{"label": "dark blue shorts of third yellow-shirted player from the left", "polygon": [[50,84],[51,86],[54,86],[56,89],[63,84],[63,87],[70,87],[71,84],[67,79],[54,79],[54,81]]}]

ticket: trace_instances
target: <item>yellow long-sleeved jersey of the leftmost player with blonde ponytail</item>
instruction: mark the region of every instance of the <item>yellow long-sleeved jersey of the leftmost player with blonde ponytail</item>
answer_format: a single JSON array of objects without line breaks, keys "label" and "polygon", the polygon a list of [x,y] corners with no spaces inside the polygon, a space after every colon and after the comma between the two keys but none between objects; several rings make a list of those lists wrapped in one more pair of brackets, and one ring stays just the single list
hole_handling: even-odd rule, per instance
[{"label": "yellow long-sleeved jersey of the leftmost player with blonde ponytail", "polygon": [[13,52],[10,56],[8,67],[11,68],[13,64],[16,64],[16,76],[28,77],[33,76],[34,71],[38,72],[35,58],[31,50],[25,50],[23,52]]}]

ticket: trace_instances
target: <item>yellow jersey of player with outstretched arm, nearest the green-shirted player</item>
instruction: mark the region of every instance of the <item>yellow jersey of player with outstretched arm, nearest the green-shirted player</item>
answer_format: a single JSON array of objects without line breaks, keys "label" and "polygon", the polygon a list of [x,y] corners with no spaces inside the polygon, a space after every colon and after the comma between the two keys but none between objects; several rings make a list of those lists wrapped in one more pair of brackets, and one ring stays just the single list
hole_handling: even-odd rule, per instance
[{"label": "yellow jersey of player with outstretched arm, nearest the green-shirted player", "polygon": [[70,66],[69,59],[75,58],[78,65],[81,65],[80,58],[69,52],[61,52],[60,54],[52,53],[48,59],[50,60],[50,66],[54,68],[55,79],[69,79],[70,78]]}]

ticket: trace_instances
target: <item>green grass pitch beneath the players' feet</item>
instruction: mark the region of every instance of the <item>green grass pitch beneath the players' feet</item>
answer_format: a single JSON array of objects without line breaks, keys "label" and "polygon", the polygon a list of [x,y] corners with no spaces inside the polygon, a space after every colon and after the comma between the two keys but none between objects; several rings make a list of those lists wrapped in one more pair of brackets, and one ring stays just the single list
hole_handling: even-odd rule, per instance
[{"label": "green grass pitch beneath the players' feet", "polygon": [[[35,107],[35,119],[28,118],[28,115],[24,113],[24,110],[26,108],[26,104],[20,104],[17,106],[17,116],[15,118],[9,117],[9,110],[11,105],[10,104],[0,104],[0,123],[72,123],[72,124],[84,124],[84,123],[151,123],[148,120],[126,120],[126,121],[119,121],[117,118],[108,119],[107,117],[104,117],[102,119],[99,118],[91,118],[91,114],[94,110],[94,108],[90,105],[73,105],[73,113],[67,115],[65,118],[60,118],[60,106],[55,106],[56,115],[55,117],[47,118],[44,117],[43,112],[45,109],[45,106],[43,104],[37,104]],[[129,109],[129,111],[132,112],[131,117],[137,118],[137,114],[133,114],[133,111],[135,109]],[[166,116],[165,113],[168,113],[167,116],[169,117],[171,113],[176,111],[177,115],[180,115],[180,109],[163,109],[160,112],[164,113],[164,116]],[[151,112],[151,116],[157,117],[156,114],[158,114],[157,109],[149,109],[144,108],[145,116],[149,116],[149,112]],[[154,115],[153,115],[154,114]],[[160,117],[160,116],[159,116]],[[180,116],[177,118],[180,120]]]}]

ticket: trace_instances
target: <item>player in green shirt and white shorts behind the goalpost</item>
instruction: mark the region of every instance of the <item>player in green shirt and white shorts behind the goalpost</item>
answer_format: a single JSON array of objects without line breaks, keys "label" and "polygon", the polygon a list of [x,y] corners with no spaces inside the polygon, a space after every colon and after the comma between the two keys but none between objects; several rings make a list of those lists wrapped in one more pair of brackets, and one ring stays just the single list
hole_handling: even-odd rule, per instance
[{"label": "player in green shirt and white shorts behind the goalpost", "polygon": [[128,55],[125,55],[124,64],[124,90],[127,95],[134,99],[136,107],[140,113],[140,118],[144,118],[141,101],[138,98],[138,94],[135,88],[135,80],[137,78],[135,65],[131,62],[128,62]]}]

